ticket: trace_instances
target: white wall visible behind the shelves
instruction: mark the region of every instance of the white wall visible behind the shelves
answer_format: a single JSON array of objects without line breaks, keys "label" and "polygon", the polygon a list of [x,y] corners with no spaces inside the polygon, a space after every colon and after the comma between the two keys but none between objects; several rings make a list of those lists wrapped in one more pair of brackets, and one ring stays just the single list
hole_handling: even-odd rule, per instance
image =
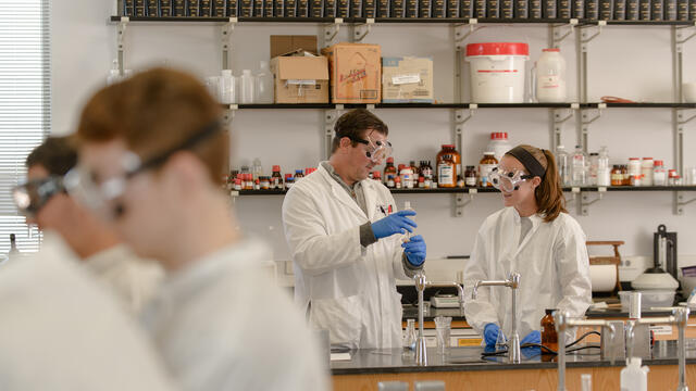
[{"label": "white wall visible behind the shelves", "polygon": [[[52,16],[53,50],[53,129],[70,133],[77,123],[82,104],[103,85],[115,56],[115,25],[107,18],[114,13],[115,0],[55,0]],[[142,70],[167,64],[189,70],[199,76],[220,72],[220,26],[200,24],[130,24],[126,31],[126,65]],[[233,65],[256,68],[269,56],[272,34],[320,34],[309,25],[239,25],[234,33]],[[346,39],[348,28],[341,30]],[[535,60],[547,46],[546,26],[485,26],[468,42],[513,40],[529,42]],[[605,28],[589,46],[589,98],[605,94],[634,100],[669,102],[671,54],[669,27]],[[445,25],[378,25],[365,42],[382,45],[383,55],[433,55],[435,93],[442,102],[453,97],[455,54],[452,33]],[[571,96],[576,91],[574,39],[569,37],[561,51],[569,64]],[[685,81],[696,80],[696,40],[685,46]],[[467,94],[468,96],[468,92]],[[451,141],[451,113],[447,110],[377,110],[390,128],[397,162],[432,160],[439,144]],[[284,172],[316,166],[323,156],[322,113],[319,111],[244,111],[233,123],[234,163],[261,157],[264,168],[281,164]],[[696,166],[696,124],[686,131],[686,166]],[[477,164],[492,131],[508,131],[511,142],[549,148],[548,111],[478,110],[465,126],[464,164]],[[671,112],[664,109],[608,110],[591,127],[589,149],[608,146],[612,163],[630,156],[663,159],[673,164]],[[576,142],[574,122],[566,124],[563,143]],[[696,193],[692,193],[696,197]],[[467,206],[464,217],[451,217],[450,195],[396,195],[397,202],[410,200],[419,212],[419,231],[426,238],[428,257],[469,254],[475,231],[488,214],[500,207],[499,195],[480,194]],[[276,260],[288,260],[281,222],[282,197],[245,197],[237,200],[243,228],[264,235],[272,242]],[[574,203],[570,204],[574,215]],[[652,252],[652,232],[666,224],[680,236],[682,261],[696,255],[696,203],[685,207],[683,216],[672,214],[672,194],[667,192],[608,193],[589,209],[589,216],[577,217],[591,240],[625,240],[625,255]]]}]

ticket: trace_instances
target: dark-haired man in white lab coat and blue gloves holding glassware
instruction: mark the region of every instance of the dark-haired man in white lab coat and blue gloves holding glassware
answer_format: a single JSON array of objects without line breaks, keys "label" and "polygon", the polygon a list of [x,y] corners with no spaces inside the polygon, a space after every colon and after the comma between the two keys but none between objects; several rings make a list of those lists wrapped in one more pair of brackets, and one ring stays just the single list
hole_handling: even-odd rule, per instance
[{"label": "dark-haired man in white lab coat and blue gloves holding glassware", "polygon": [[336,121],[327,162],[302,178],[283,202],[295,267],[295,298],[333,345],[401,345],[401,295],[396,278],[423,267],[425,242],[413,211],[396,211],[389,190],[368,174],[390,154],[388,128],[366,110]]}]

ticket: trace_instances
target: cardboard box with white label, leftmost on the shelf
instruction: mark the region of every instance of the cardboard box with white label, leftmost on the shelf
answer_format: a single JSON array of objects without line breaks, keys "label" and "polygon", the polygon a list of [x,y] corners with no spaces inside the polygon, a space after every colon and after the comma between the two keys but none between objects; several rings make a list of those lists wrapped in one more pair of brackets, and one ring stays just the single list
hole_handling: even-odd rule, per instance
[{"label": "cardboard box with white label, leftmost on the shelf", "polygon": [[328,103],[328,61],[322,55],[296,54],[271,60],[275,103]]}]

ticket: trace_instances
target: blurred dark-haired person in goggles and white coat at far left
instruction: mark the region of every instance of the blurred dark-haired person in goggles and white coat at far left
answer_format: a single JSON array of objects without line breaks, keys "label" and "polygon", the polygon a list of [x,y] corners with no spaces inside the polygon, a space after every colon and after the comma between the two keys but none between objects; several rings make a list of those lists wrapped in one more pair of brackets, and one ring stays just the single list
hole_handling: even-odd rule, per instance
[{"label": "blurred dark-haired person in goggles and white coat at far left", "polygon": [[53,191],[41,192],[42,198],[35,197],[34,204],[20,210],[27,215],[27,224],[58,232],[82,264],[137,314],[154,294],[163,270],[136,256],[112,228],[64,191],[63,176],[76,163],[77,150],[70,137],[49,137],[35,148],[26,159],[27,184],[15,194],[32,193],[22,190],[39,187]]}]

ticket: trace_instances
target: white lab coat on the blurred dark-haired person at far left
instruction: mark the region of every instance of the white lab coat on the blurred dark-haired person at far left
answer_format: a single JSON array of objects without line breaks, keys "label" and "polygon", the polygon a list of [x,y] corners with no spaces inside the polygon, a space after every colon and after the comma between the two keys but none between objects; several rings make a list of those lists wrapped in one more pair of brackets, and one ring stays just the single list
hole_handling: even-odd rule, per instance
[{"label": "white lab coat on the blurred dark-haired person at far left", "polygon": [[144,261],[125,244],[113,245],[83,261],[135,314],[152,299],[164,277],[159,264]]}]

